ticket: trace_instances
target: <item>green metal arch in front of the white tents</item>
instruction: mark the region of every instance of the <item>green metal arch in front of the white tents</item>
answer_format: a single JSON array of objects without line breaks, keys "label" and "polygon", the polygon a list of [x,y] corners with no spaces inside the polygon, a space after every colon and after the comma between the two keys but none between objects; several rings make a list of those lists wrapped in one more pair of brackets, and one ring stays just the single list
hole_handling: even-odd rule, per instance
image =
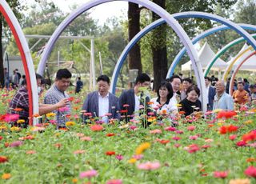
[{"label": "green metal arch in front of the white tents", "polygon": [[[256,38],[256,34],[251,34],[251,36],[253,38]],[[204,72],[204,75],[207,76],[207,74],[210,71],[211,66],[213,66],[214,62],[222,55],[226,52],[226,50],[228,50],[231,46],[234,46],[240,42],[245,41],[244,38],[238,38],[235,39],[234,41],[228,43],[226,46],[224,46],[221,50],[218,50],[218,52],[216,53],[215,57],[212,59],[212,61],[209,62],[208,66],[206,66],[206,70]]]}]

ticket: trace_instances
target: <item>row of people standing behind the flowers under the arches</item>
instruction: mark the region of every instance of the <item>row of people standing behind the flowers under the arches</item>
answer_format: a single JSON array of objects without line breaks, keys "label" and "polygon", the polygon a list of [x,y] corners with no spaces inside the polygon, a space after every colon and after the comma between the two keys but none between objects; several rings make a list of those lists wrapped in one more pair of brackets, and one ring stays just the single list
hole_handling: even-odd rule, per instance
[{"label": "row of people standing behind the flowers under the arches", "polygon": [[[42,76],[36,74],[36,78],[37,84],[40,86]],[[70,79],[69,70],[58,70],[54,84],[46,91],[44,104],[39,105],[39,114],[53,111],[59,126],[65,125],[67,121],[65,114],[70,114],[71,110],[69,95],[66,93],[70,86]],[[97,82],[98,90],[87,95],[82,110],[92,117],[100,118],[102,122],[121,118],[128,122],[130,119],[138,117],[142,111],[145,114],[151,112],[151,114],[169,114],[170,116],[181,114],[178,112],[182,111],[182,114],[187,116],[202,110],[202,104],[199,100],[200,90],[198,86],[194,85],[191,78],[182,79],[178,75],[173,75],[158,86],[157,97],[155,98],[150,98],[150,94],[147,93],[151,82],[150,76],[147,74],[139,74],[134,87],[130,90],[124,90],[119,98],[109,92],[110,78],[108,76],[99,76]],[[247,92],[242,90],[242,82],[238,82],[238,91],[234,91],[233,97],[226,93],[225,82],[218,81],[214,86],[211,86],[211,78],[206,77],[205,83],[208,110],[234,110],[234,102],[244,103],[249,98]],[[256,98],[256,86],[250,90],[252,91],[251,98]],[[18,90],[10,102],[10,113],[20,114],[20,119],[27,122],[29,117],[28,101],[25,80],[25,85]],[[66,106],[66,110],[59,110],[60,107],[64,106]],[[21,108],[22,111],[15,111],[17,108]]]}]

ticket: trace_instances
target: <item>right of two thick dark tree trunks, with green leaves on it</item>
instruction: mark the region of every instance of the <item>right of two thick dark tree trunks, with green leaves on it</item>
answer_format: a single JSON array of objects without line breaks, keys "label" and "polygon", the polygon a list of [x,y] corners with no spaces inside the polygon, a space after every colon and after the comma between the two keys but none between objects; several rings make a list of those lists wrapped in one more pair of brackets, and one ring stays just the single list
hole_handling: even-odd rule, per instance
[{"label": "right of two thick dark tree trunks, with green leaves on it", "polygon": [[[166,8],[166,0],[153,0],[162,8]],[[152,12],[152,21],[160,18],[157,14]],[[158,26],[153,30],[151,50],[153,54],[153,67],[154,67],[154,90],[158,88],[162,80],[166,78],[168,72],[167,62],[167,49],[166,49],[166,25]]]}]

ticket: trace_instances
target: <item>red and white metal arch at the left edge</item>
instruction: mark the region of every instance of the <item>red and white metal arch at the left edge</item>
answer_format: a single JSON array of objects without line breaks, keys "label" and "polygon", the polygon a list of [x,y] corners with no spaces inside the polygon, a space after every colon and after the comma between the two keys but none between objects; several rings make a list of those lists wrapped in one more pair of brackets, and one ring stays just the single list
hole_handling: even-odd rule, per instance
[{"label": "red and white metal arch at the left edge", "polygon": [[[14,15],[14,12],[10,9],[10,6],[4,0],[0,0],[0,11],[10,26],[10,30],[14,34],[18,50],[21,54],[29,94],[29,115],[30,117],[33,117],[33,114],[38,114],[38,89],[30,49],[22,32],[22,28]],[[33,125],[37,123],[35,118],[30,118],[30,126],[32,125],[32,121]]]}]

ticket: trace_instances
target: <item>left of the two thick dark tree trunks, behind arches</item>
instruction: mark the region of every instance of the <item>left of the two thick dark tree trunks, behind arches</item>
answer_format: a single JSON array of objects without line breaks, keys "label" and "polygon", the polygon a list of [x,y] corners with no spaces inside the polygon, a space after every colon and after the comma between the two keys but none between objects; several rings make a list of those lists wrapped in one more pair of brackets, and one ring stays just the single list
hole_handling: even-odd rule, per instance
[{"label": "left of the two thick dark tree trunks, behind arches", "polygon": [[[128,8],[128,40],[134,38],[140,31],[140,10],[138,4],[129,2]],[[142,72],[141,50],[138,44],[135,44],[130,50],[128,55],[129,69],[138,69],[138,72]]]}]

